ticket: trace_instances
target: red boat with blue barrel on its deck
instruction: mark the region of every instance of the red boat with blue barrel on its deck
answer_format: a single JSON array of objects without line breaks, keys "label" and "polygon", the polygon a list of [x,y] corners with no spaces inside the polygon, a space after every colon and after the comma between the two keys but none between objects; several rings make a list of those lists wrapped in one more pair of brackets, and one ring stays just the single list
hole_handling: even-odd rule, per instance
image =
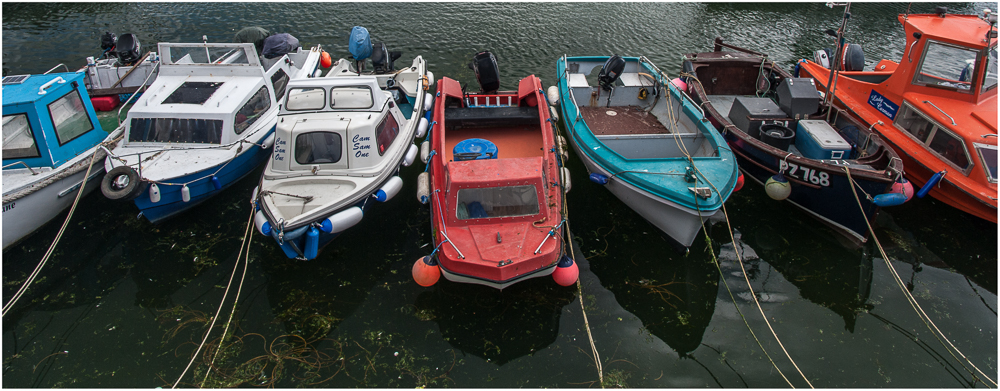
[{"label": "red boat with blue barrel on its deck", "polygon": [[418,178],[435,250],[416,261],[414,280],[430,286],[440,272],[497,289],[547,275],[573,284],[579,272],[562,239],[569,172],[541,81],[531,75],[517,91],[498,92],[495,59],[484,53],[474,64],[485,92],[464,93],[447,77],[437,83],[428,171]]}]

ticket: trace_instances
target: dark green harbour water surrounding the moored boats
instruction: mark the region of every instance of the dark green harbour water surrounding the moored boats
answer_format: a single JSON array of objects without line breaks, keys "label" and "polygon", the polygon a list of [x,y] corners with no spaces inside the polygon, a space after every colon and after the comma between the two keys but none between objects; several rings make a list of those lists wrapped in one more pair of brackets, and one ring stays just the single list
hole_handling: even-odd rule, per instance
[{"label": "dark green harbour water surrounding the moored boats", "polygon": [[[934,5],[916,3],[912,11]],[[996,3],[948,6],[979,13],[995,11]],[[2,7],[4,75],[58,63],[76,69],[100,54],[104,31],[135,33],[146,51],[157,42],[200,42],[202,35],[229,42],[243,27],[263,26],[306,47],[321,44],[336,59],[349,56],[349,31],[362,25],[390,50],[403,51],[397,63],[419,54],[437,78],[473,85],[466,65],[491,50],[505,89],[528,74],[554,84],[563,54],[645,55],[676,74],[683,53],[711,50],[716,36],[791,67],[833,46],[823,30],[835,29],[843,12],[823,3]],[[852,6],[848,39],[864,47],[869,66],[900,58],[896,15],[906,8]],[[824,388],[983,387],[970,375],[970,361],[996,381],[995,224],[931,198],[883,209],[875,232],[887,263],[872,241],[852,248],[747,183],[726,204],[746,256],[741,268],[725,224],[709,228],[711,240],[697,239],[689,254],[677,253],[655,227],[589,182],[576,156],[568,167],[570,228],[585,256],[578,259],[585,311],[575,286],[549,278],[502,292],[444,280],[416,285],[411,266],[432,249],[429,210],[414,197],[419,162],[402,170],[397,198],[370,209],[316,260],[288,260],[273,240],[254,234],[249,266],[235,275],[262,168],[160,225],[96,191],[81,200],[39,278],[3,318],[0,379],[17,388],[170,387],[233,276],[210,344],[180,386],[600,387],[588,324],[608,387],[788,387],[783,376],[808,387],[803,375]],[[65,216],[3,253],[4,303]],[[887,265],[969,361],[953,357],[928,330]],[[744,269],[781,345],[754,304]],[[220,344],[240,281],[234,322]]]}]

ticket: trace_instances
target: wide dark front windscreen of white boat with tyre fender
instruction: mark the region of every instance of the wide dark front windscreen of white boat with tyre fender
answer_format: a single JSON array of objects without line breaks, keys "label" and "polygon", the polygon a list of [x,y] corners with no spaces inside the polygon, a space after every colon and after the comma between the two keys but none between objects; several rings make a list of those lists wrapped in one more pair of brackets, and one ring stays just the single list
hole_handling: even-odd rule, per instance
[{"label": "wide dark front windscreen of white boat with tyre fender", "polygon": [[222,120],[201,118],[132,118],[128,141],[219,144]]}]

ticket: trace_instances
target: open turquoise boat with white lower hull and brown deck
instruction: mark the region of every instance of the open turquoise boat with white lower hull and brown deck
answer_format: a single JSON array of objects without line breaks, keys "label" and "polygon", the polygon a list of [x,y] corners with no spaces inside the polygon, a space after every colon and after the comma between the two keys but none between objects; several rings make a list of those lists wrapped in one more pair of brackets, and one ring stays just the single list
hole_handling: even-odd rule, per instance
[{"label": "open turquoise boat with white lower hull and brown deck", "polygon": [[[559,107],[590,179],[690,247],[723,218],[736,158],[691,98],[646,57],[561,57]],[[599,70],[599,71],[598,71]]]}]

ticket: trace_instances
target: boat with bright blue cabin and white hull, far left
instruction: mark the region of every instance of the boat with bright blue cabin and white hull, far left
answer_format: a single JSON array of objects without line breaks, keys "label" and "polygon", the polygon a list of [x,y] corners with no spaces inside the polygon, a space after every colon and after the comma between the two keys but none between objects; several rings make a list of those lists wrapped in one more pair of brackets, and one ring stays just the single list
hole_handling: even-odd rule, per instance
[{"label": "boat with bright blue cabin and white hull, far left", "polygon": [[101,128],[84,76],[3,78],[5,249],[66,210],[85,177],[84,194],[100,183],[104,174],[100,144],[110,143],[122,131],[108,134]]}]

